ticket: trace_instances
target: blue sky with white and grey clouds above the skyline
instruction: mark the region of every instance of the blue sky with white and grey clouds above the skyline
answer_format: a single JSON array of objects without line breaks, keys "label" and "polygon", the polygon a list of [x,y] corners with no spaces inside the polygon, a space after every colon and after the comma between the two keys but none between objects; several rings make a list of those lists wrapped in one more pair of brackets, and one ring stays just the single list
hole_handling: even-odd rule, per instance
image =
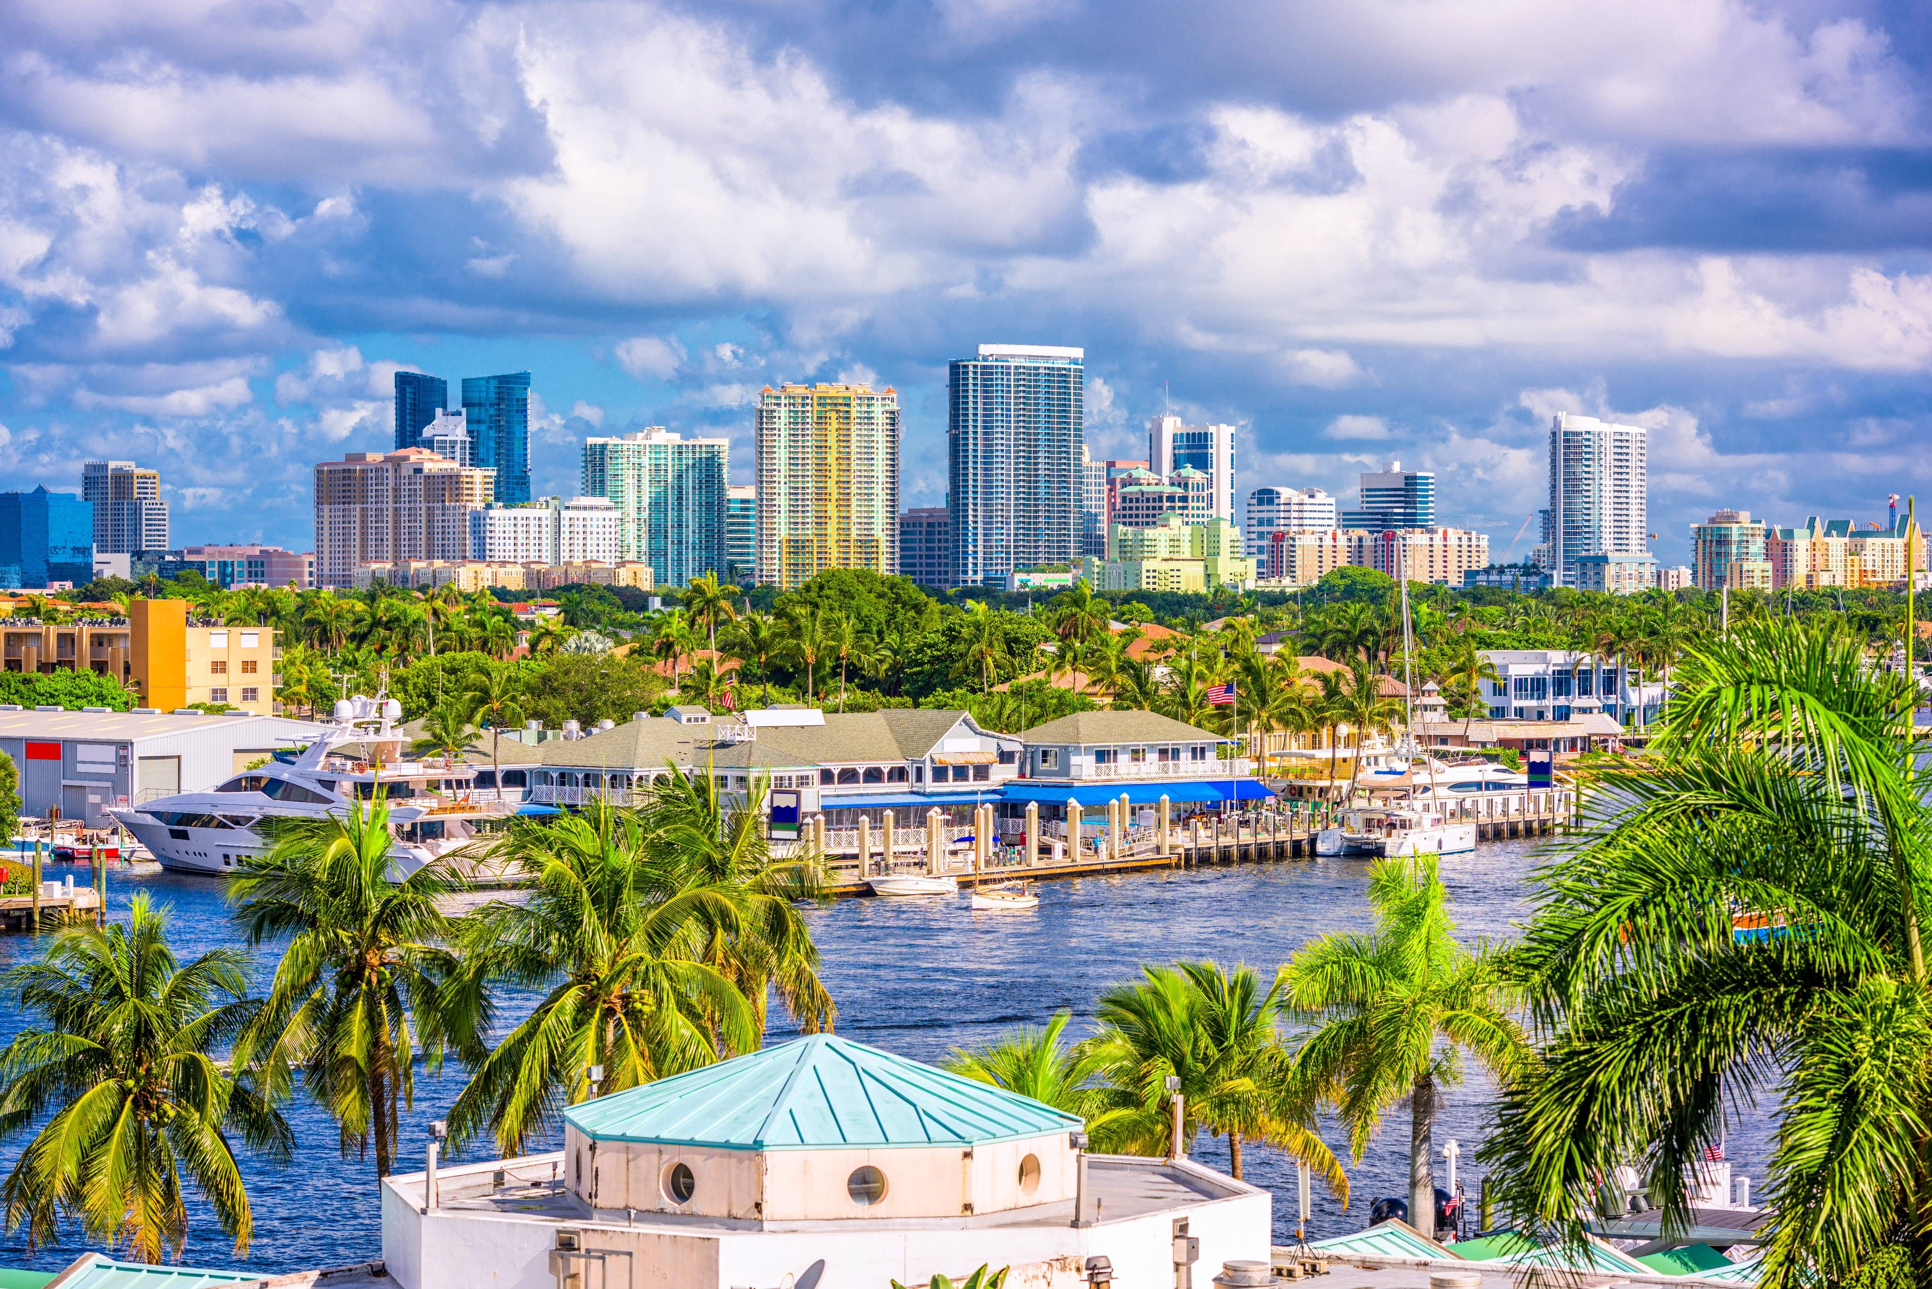
[{"label": "blue sky with white and grey clouds above the skyline", "polygon": [[[585,435],[1086,350],[1095,456],[1399,458],[1536,541],[1549,417],[1652,429],[1650,528],[1924,493],[1932,14],[1727,0],[8,0],[0,489],[162,472],[174,541],[313,545],[396,369]],[[1932,506],[1932,495],[1928,495]],[[1524,531],[1528,528],[1528,531]],[[1519,537],[1520,533],[1520,537]]]}]

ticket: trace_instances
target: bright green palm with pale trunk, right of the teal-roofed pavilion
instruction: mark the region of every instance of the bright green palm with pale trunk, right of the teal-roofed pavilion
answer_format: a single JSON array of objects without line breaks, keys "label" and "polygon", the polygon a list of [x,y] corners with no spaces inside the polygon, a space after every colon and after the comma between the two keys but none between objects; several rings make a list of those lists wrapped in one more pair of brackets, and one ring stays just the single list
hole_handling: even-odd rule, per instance
[{"label": "bright green palm with pale trunk, right of the teal-roofed pavilion", "polygon": [[1430,1136],[1441,1090],[1461,1082],[1463,1051],[1507,1086],[1530,1047],[1511,1017],[1497,959],[1457,943],[1434,854],[1376,860],[1368,902],[1372,933],[1310,941],[1277,984],[1287,1007],[1321,1026],[1294,1065],[1349,1127],[1356,1160],[1381,1115],[1408,1100],[1408,1221],[1434,1235]]}]

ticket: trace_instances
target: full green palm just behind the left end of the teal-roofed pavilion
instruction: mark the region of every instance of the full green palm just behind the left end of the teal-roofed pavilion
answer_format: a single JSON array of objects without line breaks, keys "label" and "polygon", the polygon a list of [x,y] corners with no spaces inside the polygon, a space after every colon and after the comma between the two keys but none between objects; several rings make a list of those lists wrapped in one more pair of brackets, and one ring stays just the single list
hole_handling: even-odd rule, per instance
[{"label": "full green palm just behind the left end of the teal-roofed pavilion", "polygon": [[734,893],[697,883],[653,899],[649,843],[645,816],[603,798],[543,827],[510,821],[495,856],[531,891],[464,920],[454,1001],[483,1032],[491,984],[545,995],[473,1063],[450,1107],[454,1142],[493,1132],[512,1156],[564,1105],[757,1047],[752,1001],[697,957],[707,926],[740,926]]}]

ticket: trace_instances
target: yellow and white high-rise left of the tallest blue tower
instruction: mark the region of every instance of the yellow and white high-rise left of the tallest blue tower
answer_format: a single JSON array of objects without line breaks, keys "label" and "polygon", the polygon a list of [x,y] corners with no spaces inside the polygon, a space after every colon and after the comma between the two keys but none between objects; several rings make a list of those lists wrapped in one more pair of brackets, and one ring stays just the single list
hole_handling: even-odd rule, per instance
[{"label": "yellow and white high-rise left of the tallest blue tower", "polygon": [[898,392],[769,385],[757,396],[757,580],[898,568]]}]

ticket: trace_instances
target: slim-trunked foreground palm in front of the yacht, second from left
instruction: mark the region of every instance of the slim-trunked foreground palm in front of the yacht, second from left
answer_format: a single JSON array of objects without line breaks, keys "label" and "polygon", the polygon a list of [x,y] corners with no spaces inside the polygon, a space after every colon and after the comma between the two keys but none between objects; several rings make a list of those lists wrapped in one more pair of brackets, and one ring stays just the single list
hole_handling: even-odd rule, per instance
[{"label": "slim-trunked foreground palm in front of the yacht, second from left", "polygon": [[377,1177],[394,1158],[398,1102],[413,1103],[415,1057],[439,1063],[452,1030],[439,988],[456,966],[437,897],[458,883],[425,866],[392,881],[388,804],[352,802],[327,817],[265,817],[269,852],[228,883],[249,945],[288,937],[267,1007],[238,1047],[284,1096],[301,1073],[342,1131],[342,1156],[375,1140]]}]

